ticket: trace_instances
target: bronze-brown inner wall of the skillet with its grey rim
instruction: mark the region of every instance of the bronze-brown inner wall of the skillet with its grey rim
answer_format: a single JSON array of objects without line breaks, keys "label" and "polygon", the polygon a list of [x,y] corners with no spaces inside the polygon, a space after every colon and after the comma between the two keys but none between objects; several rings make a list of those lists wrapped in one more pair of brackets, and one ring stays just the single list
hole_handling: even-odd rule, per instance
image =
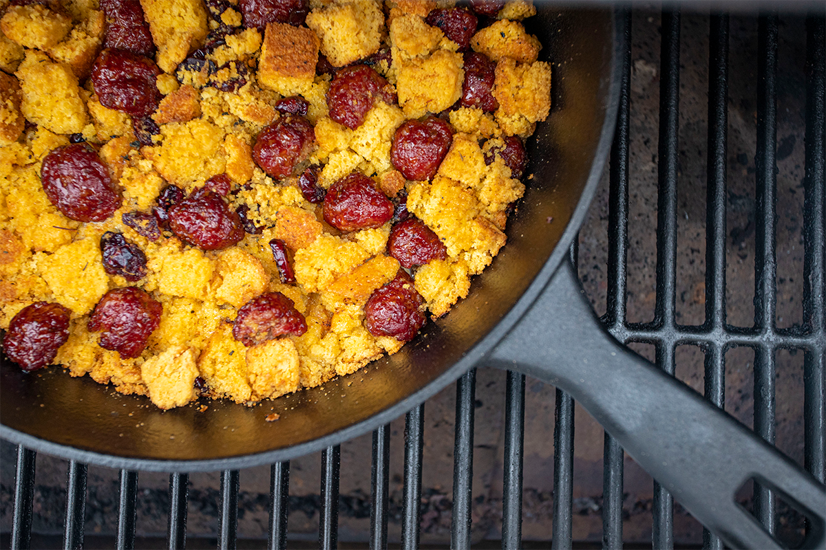
[{"label": "bronze-brown inner wall of the skillet with its grey rim", "polygon": [[[509,223],[508,245],[446,317],[429,322],[392,358],[251,408],[209,402],[204,412],[159,411],[148,399],[122,396],[88,377],[69,378],[54,368],[23,374],[4,362],[0,435],[31,449],[117,468],[242,468],[349,439],[458,378],[495,343],[485,336],[563,237],[591,172],[610,102],[610,12],[538,7],[529,31],[544,45],[540,59],[553,63],[553,107],[528,143],[532,160],[525,173],[534,176],[525,180],[528,190]],[[279,421],[264,420],[272,411],[280,413]]]}]

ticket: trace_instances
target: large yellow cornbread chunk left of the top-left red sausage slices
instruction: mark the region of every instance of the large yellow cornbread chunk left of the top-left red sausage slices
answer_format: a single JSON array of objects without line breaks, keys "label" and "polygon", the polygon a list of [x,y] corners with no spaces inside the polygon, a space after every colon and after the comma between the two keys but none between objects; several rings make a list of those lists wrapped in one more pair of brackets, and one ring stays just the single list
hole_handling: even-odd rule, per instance
[{"label": "large yellow cornbread chunk left of the top-left red sausage slices", "polygon": [[78,134],[88,124],[78,78],[66,63],[52,63],[43,53],[29,50],[15,73],[23,91],[21,110],[26,119],[57,134]]}]

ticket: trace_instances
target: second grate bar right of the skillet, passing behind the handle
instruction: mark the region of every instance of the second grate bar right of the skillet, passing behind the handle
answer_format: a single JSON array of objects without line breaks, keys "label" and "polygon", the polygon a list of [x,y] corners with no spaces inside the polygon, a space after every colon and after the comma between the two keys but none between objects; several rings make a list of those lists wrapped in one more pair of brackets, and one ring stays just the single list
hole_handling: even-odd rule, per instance
[{"label": "second grate bar right of the skillet, passing behind the handle", "polygon": [[[680,13],[662,12],[660,127],[657,190],[657,302],[655,327],[666,330],[657,339],[657,364],[674,374],[673,332],[676,289],[676,172],[680,118]],[[656,481],[653,498],[653,548],[674,548],[674,501]]]}]

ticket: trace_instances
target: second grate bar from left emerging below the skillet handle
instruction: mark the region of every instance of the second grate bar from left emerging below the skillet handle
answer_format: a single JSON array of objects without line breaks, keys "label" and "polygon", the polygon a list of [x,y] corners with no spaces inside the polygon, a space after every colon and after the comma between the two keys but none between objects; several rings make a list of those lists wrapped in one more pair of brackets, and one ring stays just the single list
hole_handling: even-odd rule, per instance
[{"label": "second grate bar from left emerging below the skillet handle", "polygon": [[572,547],[573,398],[558,389],[553,423],[553,542]]}]

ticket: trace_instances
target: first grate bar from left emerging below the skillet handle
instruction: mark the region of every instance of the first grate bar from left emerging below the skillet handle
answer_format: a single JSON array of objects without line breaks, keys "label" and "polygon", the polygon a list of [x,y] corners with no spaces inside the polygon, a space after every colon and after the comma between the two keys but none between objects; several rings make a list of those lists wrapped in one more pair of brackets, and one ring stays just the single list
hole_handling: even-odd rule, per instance
[{"label": "first grate bar from left emerging below the skillet handle", "polygon": [[502,550],[520,550],[522,548],[522,457],[525,450],[525,374],[508,371],[506,384]]}]

